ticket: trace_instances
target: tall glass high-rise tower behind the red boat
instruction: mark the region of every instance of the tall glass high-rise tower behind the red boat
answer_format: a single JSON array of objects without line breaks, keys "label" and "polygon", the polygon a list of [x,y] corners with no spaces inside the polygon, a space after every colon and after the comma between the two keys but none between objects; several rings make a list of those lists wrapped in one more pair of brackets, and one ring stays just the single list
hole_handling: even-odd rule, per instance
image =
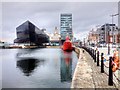
[{"label": "tall glass high-rise tower behind the red boat", "polygon": [[60,17],[60,35],[62,43],[65,41],[66,36],[72,40],[72,14],[61,14]]}]

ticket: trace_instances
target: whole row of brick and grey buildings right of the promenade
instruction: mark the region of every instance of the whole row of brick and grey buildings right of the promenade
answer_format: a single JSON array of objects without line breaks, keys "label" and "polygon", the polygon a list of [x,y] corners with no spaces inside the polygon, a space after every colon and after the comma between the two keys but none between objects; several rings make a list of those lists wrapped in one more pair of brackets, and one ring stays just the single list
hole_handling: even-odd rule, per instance
[{"label": "whole row of brick and grey buildings right of the promenade", "polygon": [[106,46],[108,43],[117,45],[119,43],[119,30],[115,24],[104,24],[98,27],[97,30],[89,32],[88,44],[92,46]]}]

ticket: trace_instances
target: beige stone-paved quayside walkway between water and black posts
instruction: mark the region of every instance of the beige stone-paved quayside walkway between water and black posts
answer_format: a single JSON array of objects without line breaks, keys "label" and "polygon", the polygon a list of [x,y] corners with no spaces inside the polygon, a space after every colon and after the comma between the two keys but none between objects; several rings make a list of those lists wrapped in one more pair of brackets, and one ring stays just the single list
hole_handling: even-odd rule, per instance
[{"label": "beige stone-paved quayside walkway between water and black posts", "polygon": [[71,88],[115,89],[115,86],[108,85],[108,76],[101,73],[100,70],[100,67],[97,67],[92,57],[86,51],[83,53],[83,49],[80,49],[79,60],[75,69]]}]

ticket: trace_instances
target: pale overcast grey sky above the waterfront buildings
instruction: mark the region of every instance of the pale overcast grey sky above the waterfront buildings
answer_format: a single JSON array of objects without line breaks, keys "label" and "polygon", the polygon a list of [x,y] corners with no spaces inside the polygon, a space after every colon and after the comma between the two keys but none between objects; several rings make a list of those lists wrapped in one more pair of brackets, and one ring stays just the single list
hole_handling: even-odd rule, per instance
[{"label": "pale overcast grey sky above the waterfront buildings", "polygon": [[[7,0],[9,1],[9,0]],[[72,13],[74,37],[83,40],[97,26],[111,23],[110,15],[118,13],[118,2],[2,2],[2,35],[0,39],[13,43],[16,27],[29,20],[38,28],[53,33],[60,30],[60,14]],[[117,16],[114,23],[117,24]]]}]

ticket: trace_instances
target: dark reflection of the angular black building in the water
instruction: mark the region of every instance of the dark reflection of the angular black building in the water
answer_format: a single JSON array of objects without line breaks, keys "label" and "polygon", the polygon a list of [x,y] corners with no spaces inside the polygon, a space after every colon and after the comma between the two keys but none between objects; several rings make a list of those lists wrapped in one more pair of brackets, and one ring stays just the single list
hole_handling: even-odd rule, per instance
[{"label": "dark reflection of the angular black building in the water", "polygon": [[31,56],[35,49],[19,50],[16,54],[17,63],[16,66],[24,73],[25,76],[33,74],[37,66],[44,65],[44,59],[37,59]]}]

